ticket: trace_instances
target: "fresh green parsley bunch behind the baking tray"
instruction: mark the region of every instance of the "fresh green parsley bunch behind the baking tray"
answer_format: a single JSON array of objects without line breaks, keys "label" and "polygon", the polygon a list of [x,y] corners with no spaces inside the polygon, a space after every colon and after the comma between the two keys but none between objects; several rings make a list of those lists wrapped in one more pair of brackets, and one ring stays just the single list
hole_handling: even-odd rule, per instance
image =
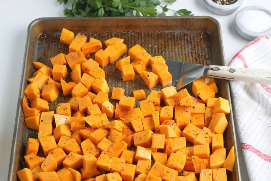
[{"label": "fresh green parsley bunch behind the baking tray", "polygon": [[[57,0],[59,4],[67,4],[69,0]],[[166,3],[162,6],[161,3]],[[193,16],[191,11],[180,9],[175,11],[167,8],[176,0],[73,0],[72,8],[64,9],[67,17],[95,17],[95,16],[157,16],[157,7],[161,8],[160,16],[167,11],[173,11],[180,16]]]}]

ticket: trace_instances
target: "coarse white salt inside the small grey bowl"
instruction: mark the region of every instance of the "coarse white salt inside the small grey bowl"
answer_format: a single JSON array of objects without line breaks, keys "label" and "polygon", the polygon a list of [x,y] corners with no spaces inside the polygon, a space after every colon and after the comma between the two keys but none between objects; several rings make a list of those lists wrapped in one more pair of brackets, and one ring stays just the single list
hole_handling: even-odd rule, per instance
[{"label": "coarse white salt inside the small grey bowl", "polygon": [[271,28],[271,16],[262,10],[248,10],[242,14],[241,24],[252,32],[264,32]]}]

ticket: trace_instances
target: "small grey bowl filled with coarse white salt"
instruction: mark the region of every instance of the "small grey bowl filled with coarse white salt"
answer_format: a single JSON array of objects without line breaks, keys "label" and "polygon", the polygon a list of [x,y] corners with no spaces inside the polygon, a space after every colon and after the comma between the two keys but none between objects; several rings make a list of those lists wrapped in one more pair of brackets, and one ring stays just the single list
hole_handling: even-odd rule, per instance
[{"label": "small grey bowl filled with coarse white salt", "polygon": [[271,11],[260,6],[248,6],[235,15],[235,27],[247,40],[271,36]]}]

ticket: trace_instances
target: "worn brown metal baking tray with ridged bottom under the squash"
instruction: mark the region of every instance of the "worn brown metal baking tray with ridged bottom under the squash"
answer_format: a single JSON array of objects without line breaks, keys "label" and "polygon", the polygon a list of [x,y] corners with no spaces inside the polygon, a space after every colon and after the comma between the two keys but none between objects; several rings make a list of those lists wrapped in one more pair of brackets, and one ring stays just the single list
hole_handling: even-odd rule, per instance
[{"label": "worn brown metal baking tray with ridged bottom under the squash", "polygon": [[[75,33],[83,33],[88,39],[107,40],[111,37],[123,38],[127,49],[139,44],[152,56],[161,55],[164,58],[182,62],[204,65],[226,65],[221,28],[218,21],[212,17],[101,17],[101,18],[40,18],[30,23],[27,31],[26,49],[23,59],[23,70],[20,82],[14,135],[11,149],[8,180],[18,180],[16,172],[26,167],[24,162],[25,147],[28,138],[37,138],[38,132],[27,129],[24,123],[20,100],[23,98],[27,79],[36,71],[33,62],[39,61],[51,66],[49,58],[60,52],[68,53],[68,46],[60,43],[59,37],[65,27]],[[104,45],[103,45],[104,46]],[[103,47],[105,48],[105,47]],[[127,55],[124,55],[125,57]],[[123,87],[125,94],[132,96],[132,90],[144,89],[150,93],[144,84],[137,84],[116,78],[115,65],[104,68],[109,87]],[[70,69],[69,69],[70,72]],[[70,77],[69,74],[67,76]],[[68,80],[69,81],[69,80]],[[226,154],[232,145],[235,147],[235,167],[233,172],[227,171],[228,180],[239,181],[240,165],[236,144],[236,133],[229,82],[216,80],[219,88],[217,96],[226,98],[230,102],[231,113],[227,120],[229,126],[224,132]],[[186,87],[190,93],[191,85]],[[155,90],[159,88],[154,87]],[[111,91],[109,92],[111,95]],[[66,102],[69,96],[61,93],[56,101],[50,103],[50,110],[55,110],[58,102]],[[115,104],[114,100],[113,103]],[[137,103],[138,106],[138,103]],[[42,155],[42,153],[38,153]]]}]

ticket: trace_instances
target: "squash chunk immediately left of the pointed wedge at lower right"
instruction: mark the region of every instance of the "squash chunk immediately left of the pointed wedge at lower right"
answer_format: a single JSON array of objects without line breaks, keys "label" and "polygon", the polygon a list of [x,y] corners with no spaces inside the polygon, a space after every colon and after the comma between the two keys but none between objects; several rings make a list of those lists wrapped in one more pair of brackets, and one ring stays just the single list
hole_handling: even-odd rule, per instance
[{"label": "squash chunk immediately left of the pointed wedge at lower right", "polygon": [[226,160],[226,148],[217,148],[210,156],[211,168],[222,168]]}]

